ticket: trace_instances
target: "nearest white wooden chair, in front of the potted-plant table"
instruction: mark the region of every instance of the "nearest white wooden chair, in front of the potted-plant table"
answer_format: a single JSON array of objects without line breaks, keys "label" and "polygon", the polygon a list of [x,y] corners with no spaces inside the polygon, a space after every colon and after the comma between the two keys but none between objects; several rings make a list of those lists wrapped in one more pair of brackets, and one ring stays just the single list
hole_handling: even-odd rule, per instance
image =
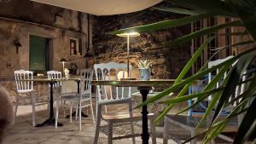
[{"label": "nearest white wooden chair, in front of the potted-plant table", "polygon": [[[96,72],[96,80],[118,80],[118,75],[121,78],[125,76],[125,69],[127,68],[126,64],[120,64],[116,62],[95,64],[94,69]],[[129,68],[131,70],[131,67]],[[121,74],[119,74],[121,72]],[[122,74],[123,73],[123,74]],[[129,72],[131,73],[131,72]],[[133,144],[135,143],[135,136],[140,136],[138,134],[134,134],[134,121],[142,120],[141,113],[133,113],[132,112],[132,104],[131,104],[131,87],[113,87],[107,85],[97,85],[96,86],[96,134],[94,144],[97,144],[99,133],[102,128],[106,127],[101,125],[101,121],[105,120],[108,123],[108,144],[112,144],[113,140],[118,140],[121,138],[130,138],[132,137]],[[117,104],[127,104],[128,105],[128,113],[115,112],[106,114],[102,114],[103,106],[117,105]],[[153,115],[148,116],[148,119],[151,120],[151,130],[153,133],[152,139],[153,143],[155,143],[154,136],[154,123],[153,123]],[[113,124],[131,124],[131,135],[113,137]],[[104,132],[104,131],[103,131]]]}]

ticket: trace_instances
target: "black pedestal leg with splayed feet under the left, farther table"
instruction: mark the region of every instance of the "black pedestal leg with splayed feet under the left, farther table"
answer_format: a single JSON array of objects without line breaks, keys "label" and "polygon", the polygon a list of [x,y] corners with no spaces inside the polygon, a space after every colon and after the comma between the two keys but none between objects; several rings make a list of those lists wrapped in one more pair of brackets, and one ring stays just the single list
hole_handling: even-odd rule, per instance
[{"label": "black pedestal leg with splayed feet under the left, farther table", "polygon": [[[49,82],[49,118],[42,124],[37,124],[36,127],[42,127],[44,125],[55,125],[55,116],[53,110],[53,84],[54,82]],[[63,126],[63,124],[58,123],[58,126]]]}]

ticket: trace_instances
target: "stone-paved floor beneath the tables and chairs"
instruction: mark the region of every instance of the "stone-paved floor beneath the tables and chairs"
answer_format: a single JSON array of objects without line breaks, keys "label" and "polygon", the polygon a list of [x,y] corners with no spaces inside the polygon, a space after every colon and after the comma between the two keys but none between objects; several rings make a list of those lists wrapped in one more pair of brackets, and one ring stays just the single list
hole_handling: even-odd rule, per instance
[{"label": "stone-paved floor beneath the tables and chairs", "polygon": [[[119,107],[118,109],[122,109]],[[67,111],[68,112],[68,111]],[[85,111],[86,112],[86,111]],[[48,117],[48,111],[41,111],[36,113],[36,122],[42,123]],[[91,118],[83,118],[82,131],[79,131],[79,123],[73,120],[69,123],[69,118],[64,118],[63,113],[60,113],[60,120],[64,126],[54,129],[53,126],[46,126],[41,128],[32,127],[31,115],[23,115],[16,118],[15,125],[11,125],[6,131],[3,144],[91,144],[94,141],[95,125]],[[137,127],[137,131],[141,128]],[[114,135],[125,133],[125,128],[118,127],[115,129]],[[137,143],[142,143],[141,138],[137,137]],[[149,140],[150,141],[150,140]],[[100,133],[99,144],[108,143],[107,135]],[[123,139],[113,141],[113,144],[130,144],[131,139]],[[151,142],[150,142],[151,143]],[[157,143],[162,143],[161,138],[157,138]],[[173,143],[173,141],[171,142]]]}]

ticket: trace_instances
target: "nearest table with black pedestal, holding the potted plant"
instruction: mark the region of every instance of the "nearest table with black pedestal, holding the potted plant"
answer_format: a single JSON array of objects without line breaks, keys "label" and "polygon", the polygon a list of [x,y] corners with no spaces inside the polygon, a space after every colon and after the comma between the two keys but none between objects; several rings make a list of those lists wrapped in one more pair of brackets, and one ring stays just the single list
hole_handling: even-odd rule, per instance
[{"label": "nearest table with black pedestal, holding the potted plant", "polygon": [[[142,95],[143,101],[147,100],[149,90],[152,87],[168,87],[171,86],[176,79],[150,79],[150,80],[131,80],[131,79],[121,79],[121,80],[92,80],[92,85],[111,85],[116,87],[137,87]],[[143,106],[143,133],[142,140],[143,144],[148,144],[148,107]]]}]

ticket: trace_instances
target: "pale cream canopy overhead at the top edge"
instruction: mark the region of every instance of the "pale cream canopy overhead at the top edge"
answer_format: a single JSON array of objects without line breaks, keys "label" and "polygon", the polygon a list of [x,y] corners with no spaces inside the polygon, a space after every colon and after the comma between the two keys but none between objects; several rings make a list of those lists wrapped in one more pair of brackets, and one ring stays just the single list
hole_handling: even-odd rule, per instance
[{"label": "pale cream canopy overhead at the top edge", "polygon": [[163,0],[32,0],[95,15],[126,14],[147,9]]}]

